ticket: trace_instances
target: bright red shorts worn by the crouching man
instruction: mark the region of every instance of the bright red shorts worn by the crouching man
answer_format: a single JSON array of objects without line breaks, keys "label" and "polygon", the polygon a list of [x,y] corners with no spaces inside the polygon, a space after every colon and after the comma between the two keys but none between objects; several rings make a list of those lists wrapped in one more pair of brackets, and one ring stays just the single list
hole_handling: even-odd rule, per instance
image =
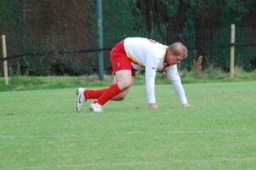
[{"label": "bright red shorts worn by the crouching man", "polygon": [[122,40],[110,51],[113,74],[115,74],[116,71],[130,70],[131,76],[135,77],[136,71],[132,68],[131,61],[126,56],[124,42],[125,40]]}]

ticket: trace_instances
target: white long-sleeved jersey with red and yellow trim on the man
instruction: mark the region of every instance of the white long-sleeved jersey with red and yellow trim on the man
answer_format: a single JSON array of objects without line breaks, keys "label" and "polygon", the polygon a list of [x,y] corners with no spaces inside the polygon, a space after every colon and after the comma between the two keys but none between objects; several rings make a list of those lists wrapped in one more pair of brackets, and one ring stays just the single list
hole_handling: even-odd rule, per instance
[{"label": "white long-sleeved jersey with red and yellow trim on the man", "polygon": [[188,103],[177,72],[177,65],[165,63],[166,45],[143,37],[128,37],[124,42],[125,53],[137,71],[145,70],[148,103],[155,103],[154,78],[157,70],[166,70],[181,104]]}]

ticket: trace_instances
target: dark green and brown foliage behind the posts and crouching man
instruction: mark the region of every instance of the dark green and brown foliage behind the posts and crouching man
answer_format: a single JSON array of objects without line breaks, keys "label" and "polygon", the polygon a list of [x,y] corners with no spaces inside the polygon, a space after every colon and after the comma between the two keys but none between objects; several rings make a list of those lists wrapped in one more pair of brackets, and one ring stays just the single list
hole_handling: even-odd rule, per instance
[{"label": "dark green and brown foliage behind the posts and crouching man", "polygon": [[[22,75],[34,76],[97,72],[98,54],[92,50],[97,48],[96,0],[3,0],[0,8],[0,33],[7,38],[8,55],[23,54],[9,60],[9,72],[19,68]],[[166,44],[183,42],[189,58],[181,69],[191,70],[193,60],[203,55],[204,69],[214,65],[228,70],[230,24],[236,24],[236,42],[254,43],[255,8],[253,0],[102,1],[105,71],[111,73],[113,45],[134,36]],[[84,53],[76,53],[81,50]],[[236,65],[247,71],[256,67],[253,46],[236,48]]]}]

